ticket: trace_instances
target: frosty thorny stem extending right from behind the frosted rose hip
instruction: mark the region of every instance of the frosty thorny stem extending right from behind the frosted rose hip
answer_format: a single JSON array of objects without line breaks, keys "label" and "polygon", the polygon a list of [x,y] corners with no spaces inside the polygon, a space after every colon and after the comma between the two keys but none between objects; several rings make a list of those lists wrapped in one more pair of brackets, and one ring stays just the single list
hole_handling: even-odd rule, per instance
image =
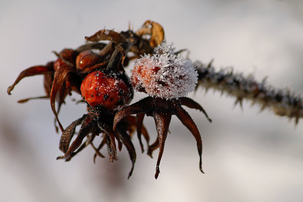
[{"label": "frosty thorny stem extending right from behind the frosted rose hip", "polygon": [[242,105],[242,99],[251,100],[252,104],[258,103],[261,110],[269,108],[279,116],[295,118],[296,124],[303,117],[303,100],[290,90],[276,89],[266,85],[265,79],[259,83],[252,76],[245,78],[228,69],[216,72],[211,62],[208,65],[195,62],[199,74],[196,88],[203,86],[206,90],[211,88],[227,93],[236,97],[235,104]]}]

